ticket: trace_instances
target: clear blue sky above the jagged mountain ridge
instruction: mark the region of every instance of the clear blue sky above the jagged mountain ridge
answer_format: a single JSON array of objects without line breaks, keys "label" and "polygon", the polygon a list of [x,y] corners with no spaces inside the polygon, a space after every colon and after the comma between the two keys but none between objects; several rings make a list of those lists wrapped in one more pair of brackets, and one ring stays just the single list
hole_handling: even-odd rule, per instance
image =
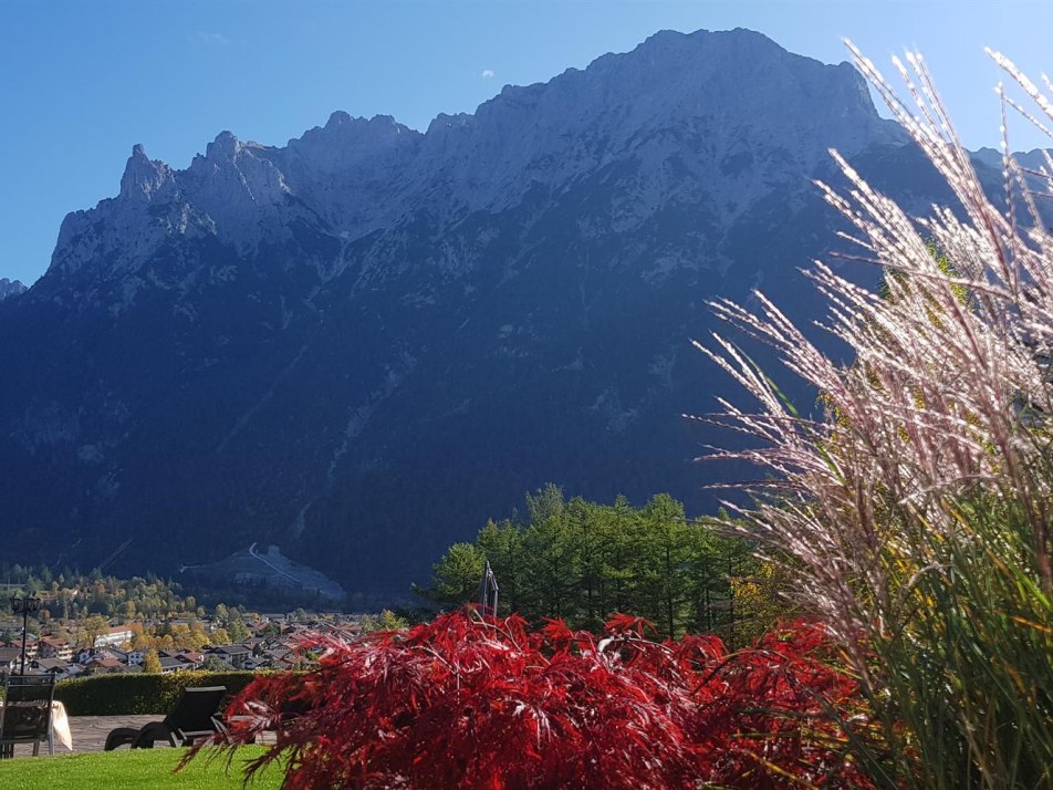
[{"label": "clear blue sky above the jagged mountain ridge", "polygon": [[282,145],[334,110],[426,128],[657,30],[737,27],[824,62],[842,37],[883,67],[920,48],[970,147],[998,143],[984,44],[1053,70],[1050,0],[0,0],[0,277],[42,274],[135,143],[183,168],[222,129]]}]

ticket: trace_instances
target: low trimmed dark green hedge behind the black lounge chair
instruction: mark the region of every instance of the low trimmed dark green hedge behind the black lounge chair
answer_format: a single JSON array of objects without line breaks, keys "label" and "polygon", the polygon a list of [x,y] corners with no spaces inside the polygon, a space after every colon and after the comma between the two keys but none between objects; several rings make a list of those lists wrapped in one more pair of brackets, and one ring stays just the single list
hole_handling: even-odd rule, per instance
[{"label": "low trimmed dark green hedge behind the black lounge chair", "polygon": [[230,694],[237,694],[260,674],[187,671],[159,675],[94,675],[61,680],[55,685],[55,699],[65,705],[70,716],[164,716],[183,695],[184,688],[226,686]]}]

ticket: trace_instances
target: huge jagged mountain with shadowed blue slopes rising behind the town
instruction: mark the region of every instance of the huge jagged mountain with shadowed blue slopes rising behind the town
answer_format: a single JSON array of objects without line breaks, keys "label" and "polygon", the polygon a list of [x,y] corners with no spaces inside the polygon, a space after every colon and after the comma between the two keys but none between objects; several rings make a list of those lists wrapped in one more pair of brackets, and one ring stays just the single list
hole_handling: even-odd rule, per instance
[{"label": "huge jagged mountain with shadowed blue slopes rising behind the town", "polygon": [[757,285],[820,313],[797,269],[843,248],[811,183],[831,147],[946,198],[849,65],[746,30],[661,32],[425,133],[337,112],[184,170],[135,146],[0,305],[6,555],[164,572],[259,541],[398,594],[549,480],[712,507],[747,472],[692,462],[717,437],[679,415],[731,388],[690,340]]}]

